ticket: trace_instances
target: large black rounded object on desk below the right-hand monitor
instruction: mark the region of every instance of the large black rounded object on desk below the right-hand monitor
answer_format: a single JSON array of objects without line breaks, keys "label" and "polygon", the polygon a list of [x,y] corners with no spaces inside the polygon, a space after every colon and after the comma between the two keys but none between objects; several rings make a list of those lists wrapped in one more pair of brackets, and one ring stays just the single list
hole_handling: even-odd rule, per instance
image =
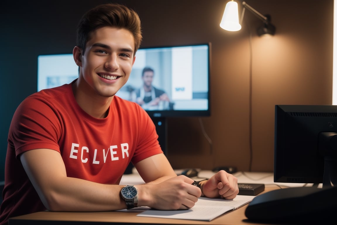
[{"label": "large black rounded object on desk below the right-hand monitor", "polygon": [[256,196],[245,215],[254,222],[337,221],[337,187],[278,189]]}]

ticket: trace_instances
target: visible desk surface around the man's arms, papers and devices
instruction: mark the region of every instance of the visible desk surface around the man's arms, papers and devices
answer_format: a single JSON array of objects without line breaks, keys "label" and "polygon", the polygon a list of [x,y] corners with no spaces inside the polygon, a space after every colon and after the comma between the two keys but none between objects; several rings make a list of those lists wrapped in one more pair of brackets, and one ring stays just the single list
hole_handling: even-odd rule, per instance
[{"label": "visible desk surface around the man's arms, papers and devices", "polygon": [[[179,170],[176,171],[177,174]],[[209,178],[214,174],[212,171],[200,171],[198,177]],[[238,172],[234,174],[238,178],[239,183],[258,183],[265,184],[266,193],[271,190],[279,189],[279,186],[284,187],[300,187],[303,184],[287,184],[287,183],[274,183],[273,173],[261,172]],[[132,174],[125,174],[120,182],[121,185],[131,184],[144,184],[143,179],[137,172]],[[165,219],[165,218],[152,218],[152,217],[138,217],[139,212],[38,212],[28,215],[13,217],[9,219],[9,225],[16,224],[222,224],[222,225],[237,225],[249,224],[245,216],[247,205],[228,212],[211,221],[197,221],[197,220],[179,220],[179,219]],[[47,223],[48,221],[48,223]],[[256,223],[254,223],[256,224]],[[264,224],[266,225],[266,224]]]}]

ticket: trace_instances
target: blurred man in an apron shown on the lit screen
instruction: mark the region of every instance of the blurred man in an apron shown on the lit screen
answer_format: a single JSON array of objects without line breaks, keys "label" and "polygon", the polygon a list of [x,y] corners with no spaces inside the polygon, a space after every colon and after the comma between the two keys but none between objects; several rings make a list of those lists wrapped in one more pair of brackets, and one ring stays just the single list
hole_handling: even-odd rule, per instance
[{"label": "blurred man in an apron shown on the lit screen", "polygon": [[172,109],[172,103],[164,90],[152,85],[154,70],[145,67],[142,72],[143,86],[135,91],[136,102],[145,110]]}]

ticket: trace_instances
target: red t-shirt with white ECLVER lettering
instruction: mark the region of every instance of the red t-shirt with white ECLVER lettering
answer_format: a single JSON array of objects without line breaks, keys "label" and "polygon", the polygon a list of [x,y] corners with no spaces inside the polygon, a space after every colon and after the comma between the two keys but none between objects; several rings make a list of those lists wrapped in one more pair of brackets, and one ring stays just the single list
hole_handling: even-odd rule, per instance
[{"label": "red t-shirt with white ECLVER lettering", "polygon": [[148,114],[118,96],[108,116],[97,119],[77,104],[71,84],[30,95],[19,105],[9,128],[0,224],[46,209],[22,167],[22,152],[53,149],[60,152],[68,177],[119,184],[130,162],[162,153],[157,139]]}]

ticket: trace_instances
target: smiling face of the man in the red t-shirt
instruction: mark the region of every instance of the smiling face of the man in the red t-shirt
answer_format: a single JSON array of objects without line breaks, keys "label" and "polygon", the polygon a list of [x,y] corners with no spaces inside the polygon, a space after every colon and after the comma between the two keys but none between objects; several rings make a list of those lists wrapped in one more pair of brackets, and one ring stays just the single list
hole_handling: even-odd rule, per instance
[{"label": "smiling face of the man in the red t-shirt", "polygon": [[83,78],[99,95],[113,96],[129,79],[134,59],[130,31],[99,28],[91,35],[82,56]]}]

